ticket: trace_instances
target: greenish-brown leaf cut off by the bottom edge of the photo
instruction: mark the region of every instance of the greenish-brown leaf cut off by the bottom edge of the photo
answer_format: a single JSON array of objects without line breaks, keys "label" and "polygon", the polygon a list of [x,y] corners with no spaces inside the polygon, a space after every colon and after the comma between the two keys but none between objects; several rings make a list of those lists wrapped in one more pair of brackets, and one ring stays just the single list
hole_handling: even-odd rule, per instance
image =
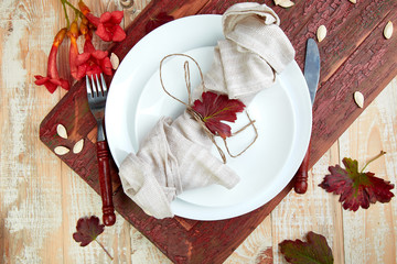
[{"label": "greenish-brown leaf cut off by the bottom edge of the photo", "polygon": [[289,263],[294,264],[332,264],[334,262],[326,239],[314,232],[307,234],[308,242],[285,240],[279,246]]}]

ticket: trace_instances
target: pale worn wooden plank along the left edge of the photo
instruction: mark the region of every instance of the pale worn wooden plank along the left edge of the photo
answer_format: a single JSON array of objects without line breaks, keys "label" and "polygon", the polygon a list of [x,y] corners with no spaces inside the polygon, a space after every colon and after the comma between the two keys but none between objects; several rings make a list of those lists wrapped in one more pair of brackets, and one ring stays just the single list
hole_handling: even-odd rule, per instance
[{"label": "pale worn wooden plank along the left edge of the photo", "polygon": [[[41,19],[45,9],[57,12],[52,1],[42,1],[39,7],[20,1],[0,3],[2,263],[63,260],[62,254],[56,254],[62,251],[62,240],[57,239],[62,234],[62,208],[57,206],[62,194],[61,163],[47,158],[53,154],[37,141],[41,117],[56,105],[60,95],[49,96],[32,84],[32,73],[45,72],[42,48],[50,48],[52,32],[58,26],[56,18]],[[32,21],[37,22],[35,26]],[[43,28],[47,32],[42,32]]]}]

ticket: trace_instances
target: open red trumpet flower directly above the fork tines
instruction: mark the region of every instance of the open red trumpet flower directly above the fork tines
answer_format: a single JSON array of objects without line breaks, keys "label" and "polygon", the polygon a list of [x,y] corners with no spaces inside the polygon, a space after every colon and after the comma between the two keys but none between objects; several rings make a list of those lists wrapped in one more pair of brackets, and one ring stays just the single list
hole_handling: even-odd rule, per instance
[{"label": "open red trumpet flower directly above the fork tines", "polygon": [[79,79],[86,75],[99,75],[100,73],[112,75],[108,52],[95,50],[88,35],[86,35],[84,43],[84,53],[77,56],[76,64]]}]

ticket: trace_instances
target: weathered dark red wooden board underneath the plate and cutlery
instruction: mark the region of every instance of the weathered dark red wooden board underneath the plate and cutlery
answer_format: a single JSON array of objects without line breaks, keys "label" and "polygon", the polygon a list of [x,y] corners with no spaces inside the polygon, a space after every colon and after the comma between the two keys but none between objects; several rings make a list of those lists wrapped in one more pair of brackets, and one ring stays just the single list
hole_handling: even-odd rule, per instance
[{"label": "weathered dark red wooden board underneath the plate and cutlery", "polygon": [[[128,28],[127,40],[111,46],[110,52],[122,59],[147,34],[147,23],[160,12],[167,12],[175,19],[197,13],[223,13],[236,2],[243,1],[153,0]],[[294,2],[294,7],[281,9],[266,1],[279,14],[281,28],[297,50],[296,59],[300,66],[303,65],[305,40],[315,37],[319,25],[324,24],[328,29],[328,36],[319,44],[321,79],[313,107],[312,166],[363,111],[354,103],[353,92],[363,92],[367,106],[397,75],[397,37],[385,40],[383,36],[387,21],[397,24],[397,13],[393,12],[397,2]],[[58,123],[71,132],[66,143],[56,135]],[[40,139],[53,151],[60,144],[72,147],[84,138],[86,143],[82,153],[71,153],[60,158],[98,193],[95,125],[88,110],[84,82],[77,82],[42,121]],[[157,220],[148,217],[124,195],[114,163],[111,174],[116,210],[175,263],[222,263],[291,189],[290,184],[267,205],[229,220]]]}]

